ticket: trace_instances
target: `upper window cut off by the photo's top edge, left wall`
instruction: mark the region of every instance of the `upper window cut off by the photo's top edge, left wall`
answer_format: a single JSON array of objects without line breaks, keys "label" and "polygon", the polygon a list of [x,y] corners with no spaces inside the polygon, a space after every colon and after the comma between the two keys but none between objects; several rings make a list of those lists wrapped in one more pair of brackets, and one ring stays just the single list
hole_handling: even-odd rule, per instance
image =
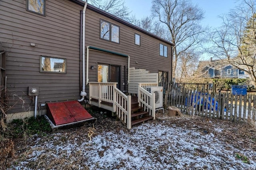
[{"label": "upper window cut off by the photo's top edge, left wall", "polygon": [[46,0],[27,0],[27,10],[45,16]]}]

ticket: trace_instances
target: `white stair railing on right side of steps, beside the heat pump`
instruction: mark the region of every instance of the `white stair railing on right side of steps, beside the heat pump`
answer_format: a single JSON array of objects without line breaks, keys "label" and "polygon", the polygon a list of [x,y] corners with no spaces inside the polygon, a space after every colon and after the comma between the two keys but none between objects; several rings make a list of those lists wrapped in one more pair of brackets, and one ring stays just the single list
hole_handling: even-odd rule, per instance
[{"label": "white stair railing on right side of steps, beside the heat pump", "polygon": [[144,108],[144,111],[148,111],[149,115],[156,118],[156,94],[151,94],[145,90],[140,84],[138,85],[138,102],[139,106]]}]

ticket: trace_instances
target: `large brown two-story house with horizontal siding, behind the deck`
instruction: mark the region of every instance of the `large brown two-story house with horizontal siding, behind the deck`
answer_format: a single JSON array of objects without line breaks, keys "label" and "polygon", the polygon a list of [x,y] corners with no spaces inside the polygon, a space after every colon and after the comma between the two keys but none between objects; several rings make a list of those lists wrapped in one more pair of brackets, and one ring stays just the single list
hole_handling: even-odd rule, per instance
[{"label": "large brown two-story house with horizontal siding, behind the deck", "polygon": [[[84,92],[93,99],[90,82],[117,83],[113,86],[128,93],[132,83],[138,90],[137,84],[150,78],[172,80],[172,43],[82,0],[36,2],[0,0],[0,50],[6,59],[1,83],[12,105],[8,113],[34,114],[29,87],[38,88],[36,109],[45,114],[47,102],[83,99]],[[141,71],[139,81],[129,80],[132,70]]]}]

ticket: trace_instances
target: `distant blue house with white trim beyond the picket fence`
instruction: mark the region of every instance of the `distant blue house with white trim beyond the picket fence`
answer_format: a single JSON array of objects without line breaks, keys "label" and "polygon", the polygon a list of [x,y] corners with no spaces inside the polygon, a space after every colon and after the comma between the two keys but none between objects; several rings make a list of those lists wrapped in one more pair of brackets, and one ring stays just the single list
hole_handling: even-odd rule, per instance
[{"label": "distant blue house with white trim beyond the picket fence", "polygon": [[[228,60],[200,61],[198,68],[205,78],[248,78],[249,75],[228,63]],[[240,66],[241,68],[241,66]],[[246,68],[244,68],[246,69]]]}]

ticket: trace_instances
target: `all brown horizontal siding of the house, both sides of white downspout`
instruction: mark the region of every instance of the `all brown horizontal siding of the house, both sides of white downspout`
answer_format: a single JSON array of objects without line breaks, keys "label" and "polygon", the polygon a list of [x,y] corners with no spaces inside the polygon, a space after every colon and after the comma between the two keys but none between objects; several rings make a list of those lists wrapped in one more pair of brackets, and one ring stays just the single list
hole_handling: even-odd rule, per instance
[{"label": "all brown horizontal siding of the house, both sides of white downspout", "polygon": [[[0,41],[6,51],[6,76],[10,105],[8,113],[31,111],[34,97],[29,86],[38,86],[38,106],[45,102],[80,99],[80,10],[70,0],[46,0],[46,16],[26,11],[26,0],[0,0]],[[100,39],[100,19],[120,27],[120,43]],[[171,80],[172,47],[169,43],[86,9],[85,45],[130,56],[130,67],[151,73],[166,71]],[[140,34],[140,46],[134,44]],[[30,43],[35,43],[31,47]],[[168,57],[159,55],[159,43],[168,46]],[[40,55],[66,59],[66,74],[40,72]],[[136,62],[138,64],[136,64]],[[128,57],[89,51],[89,82],[97,81],[97,64],[121,67],[121,89],[128,89]],[[94,66],[96,69],[90,69]],[[125,85],[124,85],[125,84]],[[88,93],[88,85],[86,85]],[[45,108],[40,108],[45,109]]]}]

